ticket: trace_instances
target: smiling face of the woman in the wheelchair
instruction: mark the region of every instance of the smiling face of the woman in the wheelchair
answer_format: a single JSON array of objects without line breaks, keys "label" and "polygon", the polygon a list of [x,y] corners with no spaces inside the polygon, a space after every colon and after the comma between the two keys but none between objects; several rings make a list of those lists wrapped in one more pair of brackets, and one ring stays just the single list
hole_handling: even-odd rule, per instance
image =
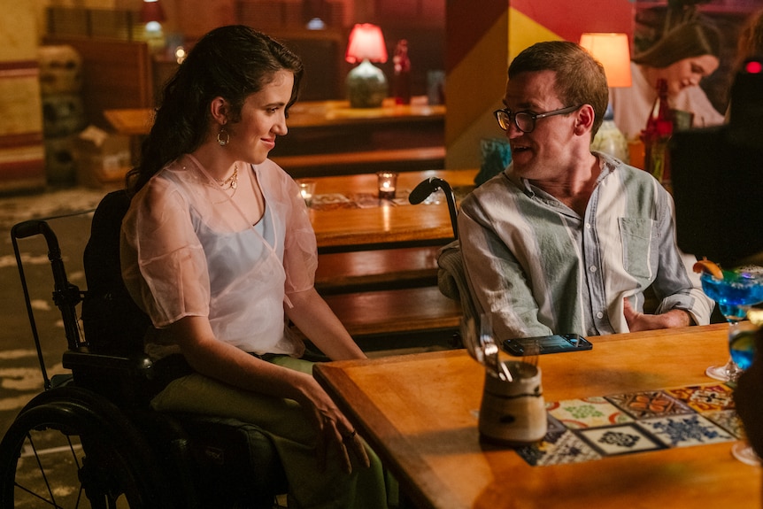
[{"label": "smiling face of the woman in the wheelchair", "polygon": [[294,74],[278,71],[258,92],[246,98],[241,109],[241,121],[228,124],[230,143],[227,150],[235,158],[258,165],[275,147],[277,136],[286,135],[286,105],[291,99]]}]

